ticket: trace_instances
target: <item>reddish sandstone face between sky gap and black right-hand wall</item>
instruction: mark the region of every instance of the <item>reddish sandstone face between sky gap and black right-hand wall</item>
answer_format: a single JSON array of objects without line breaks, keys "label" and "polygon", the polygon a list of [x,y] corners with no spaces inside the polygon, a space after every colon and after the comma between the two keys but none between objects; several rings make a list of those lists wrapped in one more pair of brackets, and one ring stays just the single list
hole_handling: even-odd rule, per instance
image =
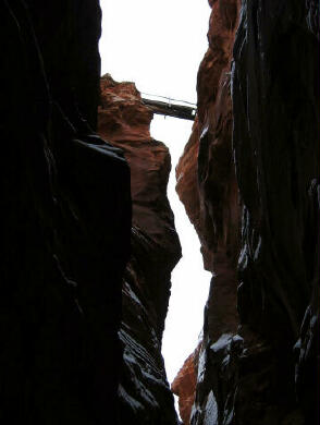
[{"label": "reddish sandstone face between sky gap and black right-hand wall", "polygon": [[[239,2],[216,1],[211,7],[209,48],[198,72],[198,116],[176,168],[176,190],[198,232],[205,268],[214,272],[205,311],[200,363],[196,371],[193,424],[213,421],[207,411],[216,411],[217,392],[223,392],[225,387],[219,372],[221,355],[211,361],[207,351],[220,337],[223,341],[226,337],[232,338],[238,325],[236,260],[241,207],[232,154],[230,68]],[[216,364],[216,378],[210,362]],[[223,399],[222,393],[219,397]]]}]

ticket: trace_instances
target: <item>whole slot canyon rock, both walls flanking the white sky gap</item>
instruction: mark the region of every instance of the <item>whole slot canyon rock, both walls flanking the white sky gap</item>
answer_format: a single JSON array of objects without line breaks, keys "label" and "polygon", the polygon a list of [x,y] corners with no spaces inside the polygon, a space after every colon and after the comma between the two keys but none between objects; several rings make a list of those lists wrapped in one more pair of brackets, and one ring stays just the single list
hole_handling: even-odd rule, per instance
[{"label": "whole slot canyon rock, both walls flanking the white sky gap", "polygon": [[98,0],[0,0],[1,424],[320,423],[320,5],[209,4],[173,172],[211,281],[170,385],[182,248],[153,111],[100,76]]}]

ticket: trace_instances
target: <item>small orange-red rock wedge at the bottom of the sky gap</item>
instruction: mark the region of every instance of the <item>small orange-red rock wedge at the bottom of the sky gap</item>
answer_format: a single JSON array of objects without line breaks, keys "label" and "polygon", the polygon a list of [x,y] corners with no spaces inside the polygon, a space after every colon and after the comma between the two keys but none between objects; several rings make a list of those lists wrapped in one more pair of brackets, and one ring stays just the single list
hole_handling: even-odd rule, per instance
[{"label": "small orange-red rock wedge at the bottom of the sky gap", "polygon": [[172,392],[179,397],[179,410],[183,424],[189,424],[192,408],[195,402],[200,349],[201,342],[184,362],[171,384]]}]

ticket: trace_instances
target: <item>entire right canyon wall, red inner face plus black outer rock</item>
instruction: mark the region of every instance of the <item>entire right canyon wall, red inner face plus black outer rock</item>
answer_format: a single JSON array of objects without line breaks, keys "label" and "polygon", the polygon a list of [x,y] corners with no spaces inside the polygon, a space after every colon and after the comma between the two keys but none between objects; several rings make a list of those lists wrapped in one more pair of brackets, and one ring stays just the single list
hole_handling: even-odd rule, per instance
[{"label": "entire right canyon wall, red inner face plus black outer rock", "polygon": [[190,424],[316,425],[319,4],[210,5],[198,117],[176,169],[213,272]]}]

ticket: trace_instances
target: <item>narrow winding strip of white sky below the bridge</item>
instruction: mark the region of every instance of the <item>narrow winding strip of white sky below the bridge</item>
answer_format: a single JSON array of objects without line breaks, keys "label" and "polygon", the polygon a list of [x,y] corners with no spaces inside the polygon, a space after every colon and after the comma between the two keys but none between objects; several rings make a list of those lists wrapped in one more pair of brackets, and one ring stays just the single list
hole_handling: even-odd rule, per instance
[{"label": "narrow winding strip of white sky below the bridge", "polygon": [[204,269],[200,243],[175,191],[175,167],[190,133],[192,121],[155,116],[151,135],[170,149],[172,170],[168,197],[182,245],[182,258],[172,271],[169,311],[162,340],[162,354],[170,382],[187,356],[196,349],[204,326],[211,274]]}]

